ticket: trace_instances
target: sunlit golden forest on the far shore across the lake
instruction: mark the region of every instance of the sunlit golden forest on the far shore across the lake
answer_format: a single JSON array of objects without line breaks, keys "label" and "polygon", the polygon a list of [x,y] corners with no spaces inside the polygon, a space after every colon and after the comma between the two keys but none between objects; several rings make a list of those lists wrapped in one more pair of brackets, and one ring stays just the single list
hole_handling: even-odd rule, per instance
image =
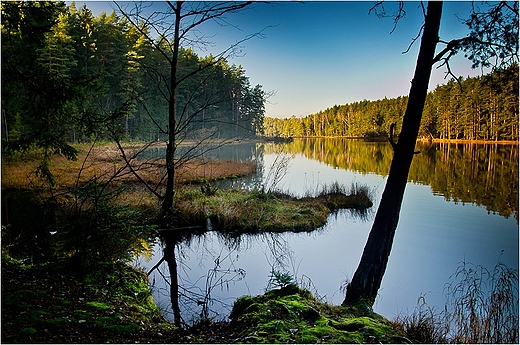
[{"label": "sunlit golden forest on the far shore across the lake", "polygon": [[[419,137],[428,139],[518,140],[518,65],[481,77],[459,78],[428,93]],[[266,118],[267,136],[386,137],[398,130],[408,97],[363,100],[303,118]]]}]

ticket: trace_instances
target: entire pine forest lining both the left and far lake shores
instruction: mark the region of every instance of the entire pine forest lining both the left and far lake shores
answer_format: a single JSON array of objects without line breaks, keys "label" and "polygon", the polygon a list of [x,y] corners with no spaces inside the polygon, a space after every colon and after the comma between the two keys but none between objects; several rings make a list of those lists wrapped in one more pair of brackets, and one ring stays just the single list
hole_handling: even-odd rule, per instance
[{"label": "entire pine forest lining both the left and far lake shores", "polygon": [[[167,140],[168,62],[124,17],[94,17],[74,3],[5,2],[2,37],[5,147],[52,147],[67,156],[64,142],[110,140],[114,132],[128,141]],[[269,118],[268,93],[250,84],[242,66],[180,49],[177,107],[190,118],[183,139],[206,133],[381,138],[392,123],[399,133],[407,96],[335,105],[303,118]],[[513,64],[438,85],[427,96],[419,136],[517,141],[518,79]]]}]

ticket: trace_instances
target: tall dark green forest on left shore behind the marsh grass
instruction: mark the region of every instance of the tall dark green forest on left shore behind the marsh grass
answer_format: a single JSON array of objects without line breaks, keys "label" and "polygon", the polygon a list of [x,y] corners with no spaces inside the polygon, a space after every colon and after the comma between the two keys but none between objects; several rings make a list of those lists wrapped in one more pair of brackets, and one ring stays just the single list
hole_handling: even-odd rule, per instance
[{"label": "tall dark green forest on left shore behind the marsh grass", "polygon": [[[260,130],[265,92],[250,85],[242,66],[182,46],[178,66],[177,107],[189,118],[184,138]],[[110,140],[114,130],[127,141],[164,141],[168,68],[161,52],[115,11],[95,17],[74,3],[2,3],[5,147]]]}]

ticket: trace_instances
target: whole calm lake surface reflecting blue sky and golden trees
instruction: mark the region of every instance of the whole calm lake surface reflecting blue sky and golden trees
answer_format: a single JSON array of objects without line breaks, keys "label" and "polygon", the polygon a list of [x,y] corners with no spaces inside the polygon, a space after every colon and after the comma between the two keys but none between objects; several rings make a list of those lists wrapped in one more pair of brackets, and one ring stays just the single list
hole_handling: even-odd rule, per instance
[{"label": "whole calm lake surface reflecting blue sky and golden trees", "polygon": [[[388,267],[374,310],[388,318],[410,312],[420,296],[444,306],[444,285],[462,261],[493,268],[500,260],[518,268],[518,146],[422,144],[410,182]],[[289,144],[248,144],[230,148],[232,157],[258,163],[257,176],[234,188],[261,184],[277,152],[292,155],[283,190],[303,195],[320,185],[366,185],[374,207],[367,215],[331,215],[311,233],[248,235],[226,239],[215,233],[178,245],[181,308],[186,322],[197,320],[204,296],[209,315],[225,319],[233,301],[268,286],[272,268],[293,275],[324,301],[340,304],[342,285],[352,277],[368,237],[391,161],[387,143],[343,139],[300,139]],[[233,153],[233,150],[237,152]],[[226,156],[229,156],[226,150]],[[156,244],[145,269],[162,257]],[[502,252],[503,251],[503,252]],[[502,253],[502,254],[501,254]],[[150,275],[157,304],[171,319],[166,264]]]}]

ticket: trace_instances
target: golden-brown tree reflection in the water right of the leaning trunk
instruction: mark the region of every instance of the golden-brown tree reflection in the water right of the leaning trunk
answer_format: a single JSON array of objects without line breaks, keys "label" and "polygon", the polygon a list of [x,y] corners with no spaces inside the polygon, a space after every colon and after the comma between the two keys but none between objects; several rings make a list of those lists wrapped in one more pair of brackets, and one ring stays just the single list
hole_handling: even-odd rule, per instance
[{"label": "golden-brown tree reflection in the water right of the leaning trunk", "polygon": [[[474,202],[518,221],[518,146],[438,144],[434,173],[423,172],[427,162],[412,165],[411,179],[421,173],[435,193],[454,202]],[[420,156],[420,155],[419,155]],[[424,159],[424,158],[423,158]],[[431,169],[430,169],[431,170]]]}]

